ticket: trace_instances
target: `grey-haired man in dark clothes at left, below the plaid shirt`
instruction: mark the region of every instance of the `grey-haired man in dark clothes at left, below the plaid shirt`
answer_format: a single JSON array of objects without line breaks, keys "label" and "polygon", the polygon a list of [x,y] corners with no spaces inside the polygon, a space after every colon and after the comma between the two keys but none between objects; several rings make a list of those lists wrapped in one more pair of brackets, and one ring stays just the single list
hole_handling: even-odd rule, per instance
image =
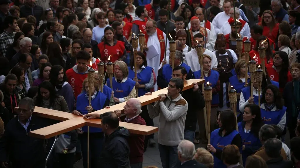
[{"label": "grey-haired man in dark clothes at left, below the plaid shirt", "polygon": [[20,40],[19,46],[20,46],[19,52],[17,52],[10,60],[10,68],[13,68],[18,63],[21,54],[24,53],[30,54],[32,40],[29,37],[24,37],[22,40]]}]

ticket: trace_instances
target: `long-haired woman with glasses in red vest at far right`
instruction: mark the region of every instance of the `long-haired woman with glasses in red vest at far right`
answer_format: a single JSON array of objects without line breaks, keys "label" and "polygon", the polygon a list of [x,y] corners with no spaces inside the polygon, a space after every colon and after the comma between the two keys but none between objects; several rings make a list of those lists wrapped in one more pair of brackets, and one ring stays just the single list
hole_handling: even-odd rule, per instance
[{"label": "long-haired woman with glasses in red vest at far right", "polygon": [[292,80],[289,72],[289,57],[286,52],[277,51],[273,57],[273,64],[267,65],[266,69],[270,79],[279,83],[279,90],[282,93],[286,83]]}]

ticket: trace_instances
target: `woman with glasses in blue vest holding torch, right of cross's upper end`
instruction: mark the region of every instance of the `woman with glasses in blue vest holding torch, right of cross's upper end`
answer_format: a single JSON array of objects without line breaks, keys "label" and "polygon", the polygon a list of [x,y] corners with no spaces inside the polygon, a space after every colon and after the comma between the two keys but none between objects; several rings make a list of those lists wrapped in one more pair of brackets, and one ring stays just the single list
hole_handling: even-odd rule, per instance
[{"label": "woman with glasses in blue vest holding torch, right of cross's upper end", "polygon": [[[220,80],[219,72],[212,70],[211,57],[209,55],[203,55],[203,75],[205,79],[205,86],[207,82],[212,87],[212,100],[211,100],[211,130],[214,130],[214,123],[217,120],[217,108],[219,104]],[[193,73],[195,79],[200,79],[201,69]]]}]

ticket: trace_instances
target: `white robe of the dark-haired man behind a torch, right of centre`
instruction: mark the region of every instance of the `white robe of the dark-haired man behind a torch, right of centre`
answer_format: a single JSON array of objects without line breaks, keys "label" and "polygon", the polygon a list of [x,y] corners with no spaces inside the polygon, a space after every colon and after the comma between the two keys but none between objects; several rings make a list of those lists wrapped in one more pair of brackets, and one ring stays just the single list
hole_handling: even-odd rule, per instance
[{"label": "white robe of the dark-haired man behind a torch, right of centre", "polygon": [[[209,51],[209,50],[205,50],[203,52],[203,54],[209,55],[211,57],[211,69],[212,68],[217,68],[218,64],[217,64],[217,57],[216,55],[214,55],[213,52]],[[186,63],[188,66],[190,66],[190,69],[193,72],[199,71],[200,68],[200,64],[199,64],[199,59],[198,59],[198,55],[197,55],[197,51],[196,49],[192,49],[190,52],[188,52],[187,54],[185,54],[184,63]]]}]

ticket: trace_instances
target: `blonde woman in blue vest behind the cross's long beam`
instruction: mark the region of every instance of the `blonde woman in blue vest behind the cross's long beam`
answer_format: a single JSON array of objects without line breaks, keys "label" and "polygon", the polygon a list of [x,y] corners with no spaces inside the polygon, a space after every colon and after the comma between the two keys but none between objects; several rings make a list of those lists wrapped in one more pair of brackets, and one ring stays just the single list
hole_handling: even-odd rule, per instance
[{"label": "blonde woman in blue vest behind the cross's long beam", "polygon": [[[136,98],[137,93],[135,91],[135,81],[128,78],[128,67],[124,61],[118,61],[115,63],[114,67],[114,77],[113,77],[113,92],[114,92],[114,102],[122,103],[131,98]],[[110,80],[107,80],[106,85],[110,87]]]}]

